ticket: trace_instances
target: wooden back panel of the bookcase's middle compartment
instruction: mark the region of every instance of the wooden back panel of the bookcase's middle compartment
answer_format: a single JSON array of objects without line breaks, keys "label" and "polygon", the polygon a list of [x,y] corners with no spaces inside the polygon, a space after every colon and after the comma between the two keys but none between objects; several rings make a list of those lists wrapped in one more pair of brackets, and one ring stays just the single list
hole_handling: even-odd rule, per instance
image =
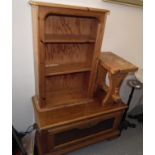
[{"label": "wooden back panel of the bookcase's middle compartment", "polygon": [[84,63],[91,65],[94,44],[47,44],[45,50],[46,66]]}]

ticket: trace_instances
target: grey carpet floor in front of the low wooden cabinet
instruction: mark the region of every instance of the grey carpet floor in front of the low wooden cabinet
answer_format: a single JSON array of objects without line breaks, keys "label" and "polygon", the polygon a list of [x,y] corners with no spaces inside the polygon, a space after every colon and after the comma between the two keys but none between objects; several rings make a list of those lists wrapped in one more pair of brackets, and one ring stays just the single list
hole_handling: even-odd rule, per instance
[{"label": "grey carpet floor in front of the low wooden cabinet", "polygon": [[142,155],[143,125],[133,120],[131,122],[137,127],[123,130],[119,138],[89,145],[67,155]]}]

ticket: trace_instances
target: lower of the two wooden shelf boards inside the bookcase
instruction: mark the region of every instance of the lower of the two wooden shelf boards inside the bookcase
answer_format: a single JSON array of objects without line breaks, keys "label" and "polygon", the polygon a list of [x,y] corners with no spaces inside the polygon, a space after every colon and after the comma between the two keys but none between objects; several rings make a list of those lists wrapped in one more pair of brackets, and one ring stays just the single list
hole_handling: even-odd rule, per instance
[{"label": "lower of the two wooden shelf boards inside the bookcase", "polygon": [[46,65],[46,76],[90,71],[86,64]]}]

